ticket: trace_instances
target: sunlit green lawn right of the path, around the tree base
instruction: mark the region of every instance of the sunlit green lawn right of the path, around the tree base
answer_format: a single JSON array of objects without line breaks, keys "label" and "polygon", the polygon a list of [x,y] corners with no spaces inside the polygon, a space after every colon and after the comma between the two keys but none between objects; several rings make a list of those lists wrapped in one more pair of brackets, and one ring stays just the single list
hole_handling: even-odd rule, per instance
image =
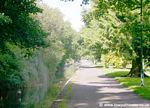
[{"label": "sunlit green lawn right of the path, around the tree base", "polygon": [[135,93],[140,95],[141,97],[150,100],[150,78],[145,78],[145,86],[140,86],[140,78],[130,78],[130,77],[123,77],[127,75],[128,72],[111,72],[107,73],[106,75],[115,78],[119,83],[123,86],[132,89]]}]

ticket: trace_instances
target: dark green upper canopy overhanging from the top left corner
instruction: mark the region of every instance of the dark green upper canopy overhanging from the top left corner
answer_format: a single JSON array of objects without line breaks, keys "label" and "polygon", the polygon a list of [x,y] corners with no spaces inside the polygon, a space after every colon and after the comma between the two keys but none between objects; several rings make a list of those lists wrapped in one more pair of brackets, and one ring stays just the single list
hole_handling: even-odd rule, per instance
[{"label": "dark green upper canopy overhanging from the top left corner", "polygon": [[41,12],[41,9],[36,6],[36,0],[1,1],[0,40],[2,51],[5,50],[6,42],[13,42],[21,47],[31,48],[44,44],[44,32],[39,27],[38,21],[35,21],[30,15],[37,12]]}]

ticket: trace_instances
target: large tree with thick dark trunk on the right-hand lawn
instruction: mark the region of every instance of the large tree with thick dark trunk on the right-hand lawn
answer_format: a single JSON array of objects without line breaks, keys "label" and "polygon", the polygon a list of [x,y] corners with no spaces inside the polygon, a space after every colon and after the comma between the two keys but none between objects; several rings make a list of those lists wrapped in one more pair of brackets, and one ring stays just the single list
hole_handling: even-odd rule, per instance
[{"label": "large tree with thick dark trunk on the right-hand lawn", "polygon": [[[149,43],[149,18],[148,18],[148,0],[143,1],[143,20],[140,19],[140,1],[129,0],[95,0],[94,11],[92,12],[94,17],[99,20],[102,17],[108,16],[109,11],[113,11],[117,19],[122,23],[120,26],[119,34],[123,34],[126,37],[131,38],[130,54],[132,56],[132,69],[129,73],[130,76],[140,76],[141,72],[141,27],[143,27],[143,55],[147,61],[149,59],[150,47]],[[110,13],[109,13],[110,14]],[[101,21],[101,20],[99,20]],[[111,27],[113,27],[112,25]],[[115,26],[114,26],[115,27]],[[120,36],[119,36],[120,39]],[[128,45],[126,44],[126,46]],[[149,62],[149,61],[148,61]]]}]

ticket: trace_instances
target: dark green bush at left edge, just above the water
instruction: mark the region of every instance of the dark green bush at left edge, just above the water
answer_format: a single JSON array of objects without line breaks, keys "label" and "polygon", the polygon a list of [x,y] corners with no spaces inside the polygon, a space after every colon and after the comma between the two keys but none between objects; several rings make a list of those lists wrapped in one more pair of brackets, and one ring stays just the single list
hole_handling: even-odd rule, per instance
[{"label": "dark green bush at left edge, just above the water", "polygon": [[10,54],[0,54],[0,90],[15,89],[23,84],[18,71],[20,71],[20,66],[16,57]]}]

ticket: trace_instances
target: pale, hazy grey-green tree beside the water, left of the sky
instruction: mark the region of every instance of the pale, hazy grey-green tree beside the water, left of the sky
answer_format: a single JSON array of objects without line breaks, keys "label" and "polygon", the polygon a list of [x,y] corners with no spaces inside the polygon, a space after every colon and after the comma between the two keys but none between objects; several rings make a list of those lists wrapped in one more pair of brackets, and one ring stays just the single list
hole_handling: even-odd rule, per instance
[{"label": "pale, hazy grey-green tree beside the water, left of the sky", "polygon": [[[50,45],[44,49],[43,55],[47,55],[44,60],[55,69],[50,71],[51,77],[54,77],[53,75],[62,77],[65,63],[79,57],[79,34],[72,29],[69,22],[63,20],[63,14],[59,9],[49,8],[43,4],[39,4],[39,7],[43,9],[43,13],[34,17],[41,22],[42,28],[48,34],[46,40]],[[55,62],[52,63],[52,59]]]}]

